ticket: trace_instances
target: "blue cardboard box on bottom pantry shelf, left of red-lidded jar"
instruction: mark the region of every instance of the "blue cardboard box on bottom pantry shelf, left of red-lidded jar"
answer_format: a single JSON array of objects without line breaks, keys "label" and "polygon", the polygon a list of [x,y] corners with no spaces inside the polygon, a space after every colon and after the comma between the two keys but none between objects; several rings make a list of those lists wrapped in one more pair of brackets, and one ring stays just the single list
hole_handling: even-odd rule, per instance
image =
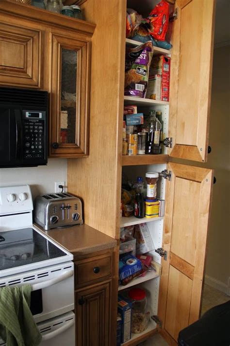
[{"label": "blue cardboard box on bottom pantry shelf, left of red-lidded jar", "polygon": [[117,311],[121,316],[121,343],[131,339],[131,304],[118,296]]}]

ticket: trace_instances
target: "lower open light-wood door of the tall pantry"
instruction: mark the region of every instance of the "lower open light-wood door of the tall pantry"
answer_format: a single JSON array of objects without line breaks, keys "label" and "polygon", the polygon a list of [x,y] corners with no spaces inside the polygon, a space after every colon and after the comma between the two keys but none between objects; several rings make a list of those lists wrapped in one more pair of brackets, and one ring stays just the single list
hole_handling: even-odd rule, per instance
[{"label": "lower open light-wood door of the tall pantry", "polygon": [[213,170],[183,164],[168,164],[168,170],[158,318],[173,345],[199,318]]}]

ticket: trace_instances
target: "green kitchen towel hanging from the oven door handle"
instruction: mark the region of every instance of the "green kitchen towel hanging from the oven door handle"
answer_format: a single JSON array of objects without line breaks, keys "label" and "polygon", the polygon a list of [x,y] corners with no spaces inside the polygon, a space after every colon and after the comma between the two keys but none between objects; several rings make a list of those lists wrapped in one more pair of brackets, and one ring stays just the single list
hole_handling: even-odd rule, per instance
[{"label": "green kitchen towel hanging from the oven door handle", "polygon": [[0,337],[7,346],[37,346],[42,340],[30,310],[31,285],[0,288]]}]

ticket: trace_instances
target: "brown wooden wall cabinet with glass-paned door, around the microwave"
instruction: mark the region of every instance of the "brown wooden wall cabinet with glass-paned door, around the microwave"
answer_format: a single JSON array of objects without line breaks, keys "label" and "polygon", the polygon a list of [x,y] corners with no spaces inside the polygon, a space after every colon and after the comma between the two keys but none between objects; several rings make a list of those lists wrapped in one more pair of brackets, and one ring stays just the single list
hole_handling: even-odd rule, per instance
[{"label": "brown wooden wall cabinet with glass-paned door, around the microwave", "polygon": [[0,1],[0,85],[49,91],[49,157],[88,155],[94,24]]}]

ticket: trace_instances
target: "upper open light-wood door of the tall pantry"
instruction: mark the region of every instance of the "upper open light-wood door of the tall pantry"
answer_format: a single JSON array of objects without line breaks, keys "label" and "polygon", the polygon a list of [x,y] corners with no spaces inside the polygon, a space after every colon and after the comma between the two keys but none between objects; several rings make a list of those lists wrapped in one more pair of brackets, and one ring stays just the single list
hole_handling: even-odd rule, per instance
[{"label": "upper open light-wood door of the tall pantry", "polygon": [[176,0],[169,137],[172,157],[207,161],[215,0]]}]

